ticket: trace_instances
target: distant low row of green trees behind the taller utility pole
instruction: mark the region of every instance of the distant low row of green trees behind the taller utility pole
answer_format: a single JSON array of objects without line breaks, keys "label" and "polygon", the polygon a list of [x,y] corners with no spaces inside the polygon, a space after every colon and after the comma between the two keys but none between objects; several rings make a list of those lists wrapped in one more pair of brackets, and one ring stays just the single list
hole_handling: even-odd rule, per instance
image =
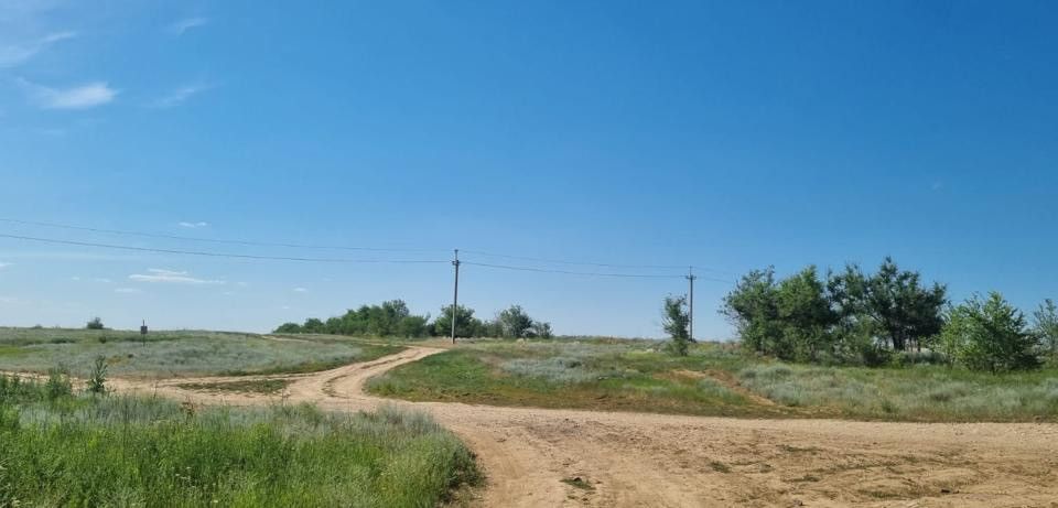
[{"label": "distant low row of green trees behind the taller utility pole", "polygon": [[[430,315],[412,314],[403,300],[390,300],[379,305],[360,305],[341,316],[326,321],[310,317],[304,323],[283,323],[276,333],[368,335],[375,337],[442,337],[452,331],[452,305],[441,307],[432,320]],[[455,312],[456,337],[551,338],[551,323],[529,316],[521,305],[511,305],[492,320],[474,316],[474,310],[458,305]]]}]

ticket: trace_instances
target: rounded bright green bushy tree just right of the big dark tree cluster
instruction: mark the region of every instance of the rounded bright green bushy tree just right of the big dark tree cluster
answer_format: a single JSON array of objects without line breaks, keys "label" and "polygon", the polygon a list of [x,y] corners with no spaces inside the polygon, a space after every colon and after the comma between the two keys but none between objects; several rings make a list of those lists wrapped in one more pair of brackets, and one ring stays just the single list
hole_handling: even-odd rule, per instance
[{"label": "rounded bright green bushy tree just right of the big dark tree cluster", "polygon": [[1039,366],[1039,338],[1028,329],[1025,315],[995,291],[987,300],[974,295],[952,309],[941,336],[973,370],[995,374]]}]

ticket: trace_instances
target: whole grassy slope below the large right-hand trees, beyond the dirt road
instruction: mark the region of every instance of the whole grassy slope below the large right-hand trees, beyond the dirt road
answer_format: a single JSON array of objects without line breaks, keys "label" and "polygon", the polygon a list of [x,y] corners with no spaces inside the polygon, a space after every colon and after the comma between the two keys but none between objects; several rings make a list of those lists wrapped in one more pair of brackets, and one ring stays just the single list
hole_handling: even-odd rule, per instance
[{"label": "whole grassy slope below the large right-hand trees, beyond the dirt road", "polygon": [[848,368],[757,360],[698,345],[685,358],[631,341],[482,342],[391,370],[371,392],[410,400],[737,417],[1058,420],[1058,371]]}]

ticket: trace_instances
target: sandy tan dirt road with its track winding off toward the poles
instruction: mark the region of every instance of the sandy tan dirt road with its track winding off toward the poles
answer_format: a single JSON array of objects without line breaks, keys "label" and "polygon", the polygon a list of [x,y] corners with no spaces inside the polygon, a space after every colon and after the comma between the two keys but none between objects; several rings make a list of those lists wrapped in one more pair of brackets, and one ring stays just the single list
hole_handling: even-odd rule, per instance
[{"label": "sandy tan dirt road with its track winding off toward the poles", "polygon": [[[441,350],[410,347],[268,378],[292,380],[283,393],[290,402],[349,411],[395,403],[432,413],[478,455],[486,507],[1058,507],[1055,424],[742,420],[409,403],[363,392],[369,377]],[[224,379],[114,383],[201,403],[276,399],[176,387]]]}]

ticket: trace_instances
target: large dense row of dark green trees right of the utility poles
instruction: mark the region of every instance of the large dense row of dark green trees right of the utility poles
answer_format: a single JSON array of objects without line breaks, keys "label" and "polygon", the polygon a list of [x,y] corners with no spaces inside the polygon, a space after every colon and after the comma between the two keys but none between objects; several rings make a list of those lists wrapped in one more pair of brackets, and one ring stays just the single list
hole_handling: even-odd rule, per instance
[{"label": "large dense row of dark green trees right of the utility poles", "polygon": [[820,277],[814,266],[781,280],[774,268],[742,277],[723,301],[747,349],[788,361],[888,365],[943,361],[992,372],[1058,360],[1058,310],[1050,300],[1032,322],[998,292],[951,303],[885,258]]}]

